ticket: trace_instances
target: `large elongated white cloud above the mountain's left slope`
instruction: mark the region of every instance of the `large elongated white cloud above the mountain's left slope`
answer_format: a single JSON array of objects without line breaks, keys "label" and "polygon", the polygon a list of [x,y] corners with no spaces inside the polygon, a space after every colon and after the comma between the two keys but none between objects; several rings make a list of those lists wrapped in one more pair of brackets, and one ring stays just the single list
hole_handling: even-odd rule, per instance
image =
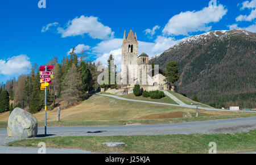
[{"label": "large elongated white cloud above the mountain's left slope", "polygon": [[228,10],[223,5],[204,7],[200,11],[186,11],[173,16],[163,29],[164,35],[185,35],[189,32],[209,31],[209,23],[219,22]]}]

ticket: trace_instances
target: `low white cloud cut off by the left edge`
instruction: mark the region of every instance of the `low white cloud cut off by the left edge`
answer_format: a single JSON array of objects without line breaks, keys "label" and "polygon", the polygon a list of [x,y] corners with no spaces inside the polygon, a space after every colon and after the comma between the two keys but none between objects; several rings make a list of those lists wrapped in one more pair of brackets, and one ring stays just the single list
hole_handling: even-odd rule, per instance
[{"label": "low white cloud cut off by the left edge", "polygon": [[0,60],[0,66],[0,74],[3,75],[25,74],[32,67],[30,58],[24,54],[8,58],[7,60]]}]

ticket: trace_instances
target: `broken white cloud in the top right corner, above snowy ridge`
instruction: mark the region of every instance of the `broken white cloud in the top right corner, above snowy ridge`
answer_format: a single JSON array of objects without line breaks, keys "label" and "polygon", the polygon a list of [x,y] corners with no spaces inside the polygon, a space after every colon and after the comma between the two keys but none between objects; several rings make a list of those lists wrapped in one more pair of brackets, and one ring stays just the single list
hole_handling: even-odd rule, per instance
[{"label": "broken white cloud in the top right corner, above snowy ridge", "polygon": [[244,1],[242,3],[241,10],[245,9],[251,9],[251,13],[249,15],[239,15],[236,18],[236,21],[249,21],[251,22],[256,18],[256,0],[252,0],[251,2],[249,1]]}]

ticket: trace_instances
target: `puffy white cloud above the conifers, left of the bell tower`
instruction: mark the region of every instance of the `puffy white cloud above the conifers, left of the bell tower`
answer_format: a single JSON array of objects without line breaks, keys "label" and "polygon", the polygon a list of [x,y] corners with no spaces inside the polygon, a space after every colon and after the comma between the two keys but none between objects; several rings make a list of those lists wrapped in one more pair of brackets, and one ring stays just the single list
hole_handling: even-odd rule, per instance
[{"label": "puffy white cloud above the conifers, left of the bell tower", "polygon": [[98,22],[97,17],[84,15],[69,21],[66,28],[58,27],[57,31],[62,37],[79,36],[85,33],[93,39],[108,39],[114,36],[112,29]]}]

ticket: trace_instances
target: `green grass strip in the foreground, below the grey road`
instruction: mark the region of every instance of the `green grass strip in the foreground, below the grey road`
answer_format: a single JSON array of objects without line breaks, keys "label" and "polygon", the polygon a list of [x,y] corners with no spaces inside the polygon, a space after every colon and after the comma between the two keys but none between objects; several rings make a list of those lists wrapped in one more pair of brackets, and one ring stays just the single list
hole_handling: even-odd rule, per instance
[{"label": "green grass strip in the foreground, below the grey road", "polygon": [[[250,153],[256,151],[256,130],[249,133],[193,134],[165,136],[56,137],[24,139],[9,146],[81,149],[96,153],[205,153],[209,142],[217,144],[217,153]],[[124,142],[121,147],[106,147],[103,142]]]}]

